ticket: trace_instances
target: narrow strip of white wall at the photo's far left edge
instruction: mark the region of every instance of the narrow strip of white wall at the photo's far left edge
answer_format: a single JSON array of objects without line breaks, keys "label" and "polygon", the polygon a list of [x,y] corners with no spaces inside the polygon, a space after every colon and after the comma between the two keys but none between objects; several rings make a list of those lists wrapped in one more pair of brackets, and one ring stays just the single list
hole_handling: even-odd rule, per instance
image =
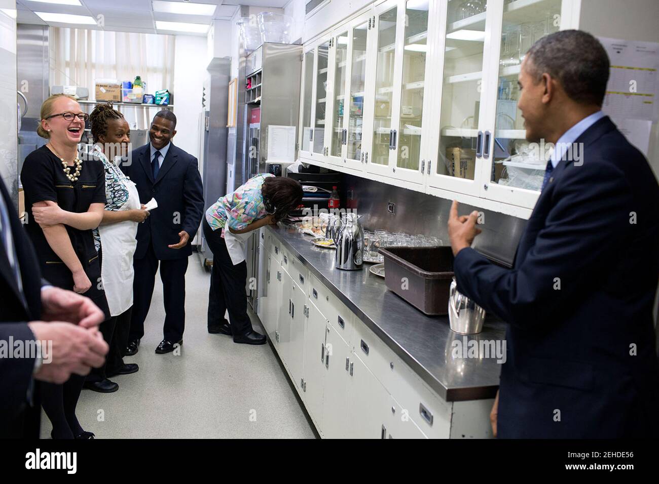
[{"label": "narrow strip of white wall at the photo's far left edge", "polygon": [[18,116],[16,111],[16,13],[14,0],[0,0],[0,177],[18,200]]}]

